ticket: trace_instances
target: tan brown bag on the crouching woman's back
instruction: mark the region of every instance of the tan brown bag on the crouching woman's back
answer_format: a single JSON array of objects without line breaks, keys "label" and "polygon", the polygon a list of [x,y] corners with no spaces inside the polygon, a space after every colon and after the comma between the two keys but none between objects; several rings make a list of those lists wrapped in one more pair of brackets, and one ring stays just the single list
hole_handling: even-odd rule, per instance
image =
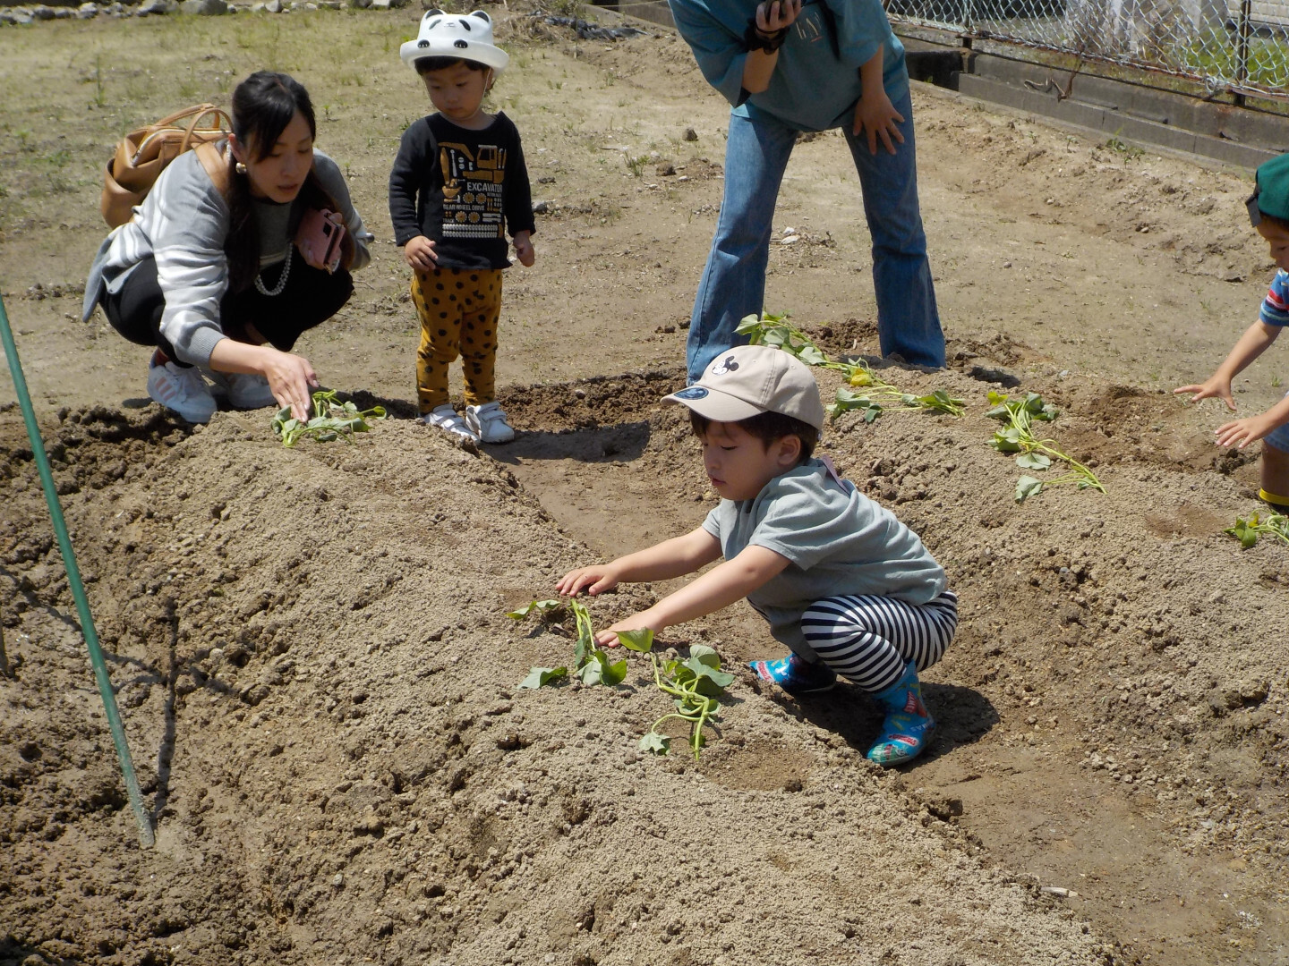
[{"label": "tan brown bag on the crouching woman's back", "polygon": [[[110,228],[129,222],[131,209],[143,202],[166,165],[189,148],[223,140],[231,130],[232,121],[222,109],[214,104],[196,104],[126,134],[103,174],[103,194],[98,205],[103,220]],[[217,176],[211,170],[213,153],[202,151],[199,156],[210,179],[223,191],[227,173]]]}]

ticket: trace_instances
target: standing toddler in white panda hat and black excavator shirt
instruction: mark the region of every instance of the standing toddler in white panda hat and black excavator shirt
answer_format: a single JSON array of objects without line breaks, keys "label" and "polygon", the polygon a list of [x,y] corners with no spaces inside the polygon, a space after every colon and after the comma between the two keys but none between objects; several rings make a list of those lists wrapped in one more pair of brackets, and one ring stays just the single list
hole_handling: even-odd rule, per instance
[{"label": "standing toddler in white panda hat and black excavator shirt", "polygon": [[[519,131],[483,95],[509,55],[492,44],[492,21],[427,10],[400,49],[425,82],[437,113],[403,133],[389,173],[394,241],[412,268],[420,316],[416,395],[420,420],[467,439],[508,443],[514,430],[496,402],[505,231],[525,265],[535,260],[532,194]],[[447,401],[447,368],[460,354],[465,417]]]}]

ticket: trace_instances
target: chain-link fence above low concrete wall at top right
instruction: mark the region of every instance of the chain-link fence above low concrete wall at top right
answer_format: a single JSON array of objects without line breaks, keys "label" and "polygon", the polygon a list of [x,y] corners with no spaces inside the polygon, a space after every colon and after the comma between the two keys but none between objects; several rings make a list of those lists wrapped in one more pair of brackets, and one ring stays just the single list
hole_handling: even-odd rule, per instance
[{"label": "chain-link fence above low concrete wall at top right", "polygon": [[892,21],[1289,100],[1289,0],[889,0]]}]

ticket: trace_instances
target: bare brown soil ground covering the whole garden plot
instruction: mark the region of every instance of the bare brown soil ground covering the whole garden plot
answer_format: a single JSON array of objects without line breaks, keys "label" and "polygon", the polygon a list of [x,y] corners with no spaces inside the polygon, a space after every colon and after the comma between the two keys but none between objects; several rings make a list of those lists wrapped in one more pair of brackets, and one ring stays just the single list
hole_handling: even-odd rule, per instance
[{"label": "bare brown soil ground covering the whole garden plot", "polygon": [[[1165,392],[1212,371],[1270,278],[1246,176],[915,85],[951,365],[880,372],[969,412],[843,416],[822,450],[962,598],[926,675],[940,734],[870,766],[866,698],[758,687],[741,668],[779,649],[739,605],[664,641],[739,675],[701,759],[642,756],[668,708],[647,659],[616,689],[519,690],[568,659],[571,621],[504,613],[714,502],[657,401],[683,381],[726,108],[665,31],[583,41],[496,13],[495,102],[547,202],[538,265],[508,273],[507,447],[410,419],[384,184],[425,109],[397,61],[415,13],[0,31],[4,299],[157,827],[141,849],[5,383],[0,962],[1289,962],[1289,547],[1222,535],[1258,510],[1255,457],[1213,447],[1216,404]],[[309,86],[378,236],[300,345],[391,408],[354,446],[284,450],[268,411],[173,420],[146,352],[77,321],[115,137],[263,66]],[[798,147],[776,229],[768,308],[873,358],[837,134]],[[1280,394],[1281,358],[1239,381],[1241,410]],[[1060,406],[1048,431],[1109,492],[1016,505],[990,389]]]}]

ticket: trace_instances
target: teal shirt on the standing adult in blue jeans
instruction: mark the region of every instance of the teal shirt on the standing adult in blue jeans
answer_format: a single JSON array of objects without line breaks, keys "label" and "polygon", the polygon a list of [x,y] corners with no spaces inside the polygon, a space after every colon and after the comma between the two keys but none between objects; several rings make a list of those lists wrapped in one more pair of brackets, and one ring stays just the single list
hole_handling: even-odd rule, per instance
[{"label": "teal shirt on the standing adult in blue jeans", "polygon": [[804,0],[779,50],[770,86],[740,104],[748,61],[744,32],[754,0],[669,0],[672,17],[708,84],[735,113],[770,115],[789,128],[822,131],[852,124],[860,99],[860,64],[882,45],[882,85],[896,100],[909,89],[904,45],[879,0]]}]

